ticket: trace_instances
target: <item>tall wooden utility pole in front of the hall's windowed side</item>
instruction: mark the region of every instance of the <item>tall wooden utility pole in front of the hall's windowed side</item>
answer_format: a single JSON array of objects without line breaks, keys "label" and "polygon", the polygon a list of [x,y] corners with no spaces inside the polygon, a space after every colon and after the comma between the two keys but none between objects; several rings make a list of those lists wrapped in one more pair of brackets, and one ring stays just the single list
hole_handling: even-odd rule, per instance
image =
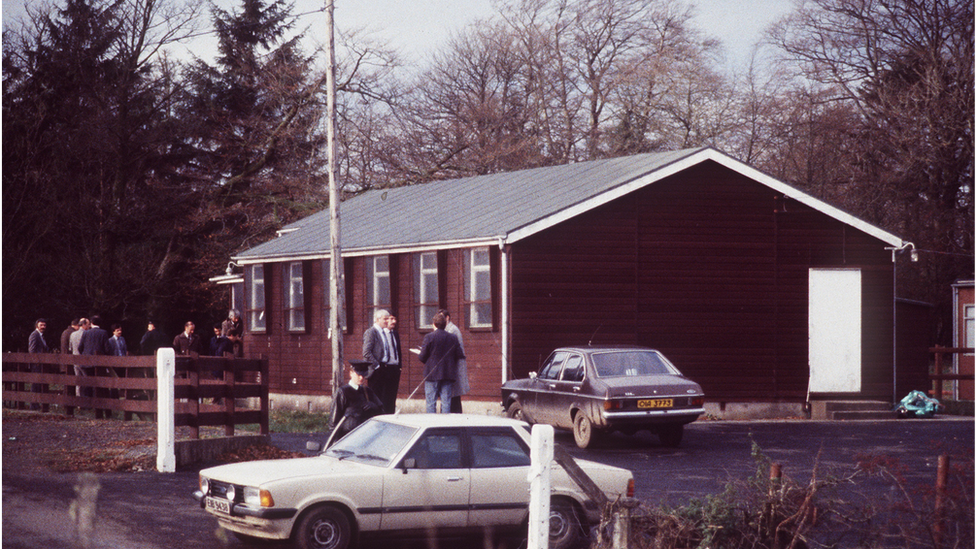
[{"label": "tall wooden utility pole in front of the hall's windowed side", "polygon": [[329,336],[332,339],[332,392],[342,385],[342,326],[340,319],[345,309],[345,288],[343,284],[342,244],[339,223],[339,188],[336,184],[336,146],[335,146],[335,3],[326,0],[326,27],[328,29],[328,73],[325,78],[326,108],[325,122],[329,161]]}]

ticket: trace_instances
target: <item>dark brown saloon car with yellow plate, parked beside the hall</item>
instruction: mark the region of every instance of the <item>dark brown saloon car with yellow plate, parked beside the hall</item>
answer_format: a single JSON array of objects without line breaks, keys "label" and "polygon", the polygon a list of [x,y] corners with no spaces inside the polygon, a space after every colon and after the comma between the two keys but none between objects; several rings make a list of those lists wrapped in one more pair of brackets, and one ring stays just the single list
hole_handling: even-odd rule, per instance
[{"label": "dark brown saloon car with yellow plate, parked beside the hall", "polygon": [[572,429],[586,448],[600,432],[646,429],[678,446],[686,423],[705,413],[701,386],[644,347],[563,347],[539,373],[502,385],[509,417]]}]

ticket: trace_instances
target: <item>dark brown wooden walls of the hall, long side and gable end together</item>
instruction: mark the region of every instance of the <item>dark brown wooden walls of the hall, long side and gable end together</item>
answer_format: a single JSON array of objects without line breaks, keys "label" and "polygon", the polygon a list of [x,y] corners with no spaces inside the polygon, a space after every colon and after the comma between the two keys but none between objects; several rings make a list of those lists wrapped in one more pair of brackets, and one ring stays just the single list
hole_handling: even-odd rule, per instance
[{"label": "dark brown wooden walls of the hall, long side and gable end together", "polygon": [[[861,396],[888,398],[892,275],[884,247],[717,164],[685,170],[512,246],[509,376],[537,370],[561,345],[637,344],[661,349],[712,400],[803,401],[809,269],[844,267],[862,272]],[[463,252],[441,252],[439,261],[441,306],[464,336],[469,396],[498,398],[500,318],[493,329],[467,329]],[[266,265],[269,331],[246,334],[245,350],[269,358],[272,392],[332,391],[323,266],[312,261],[306,269],[308,330],[294,334],[284,329],[284,265]],[[372,317],[365,259],[347,258],[345,266],[348,360],[361,355]],[[391,269],[402,344],[417,347],[429,326],[415,319],[411,256],[391,256]],[[501,273],[493,274],[499,311]],[[401,398],[420,384],[422,370],[416,355],[404,354]],[[421,388],[415,397],[422,396]]]}]

